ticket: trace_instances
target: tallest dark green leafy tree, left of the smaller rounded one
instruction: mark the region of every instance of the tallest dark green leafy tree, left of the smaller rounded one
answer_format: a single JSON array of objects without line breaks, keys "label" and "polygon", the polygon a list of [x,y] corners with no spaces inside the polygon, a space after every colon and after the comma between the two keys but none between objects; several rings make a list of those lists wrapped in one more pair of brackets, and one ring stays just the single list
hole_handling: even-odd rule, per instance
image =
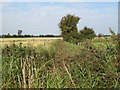
[{"label": "tallest dark green leafy tree, left of the smaller rounded one", "polygon": [[71,14],[62,17],[58,26],[61,29],[61,34],[65,41],[74,43],[74,36],[78,33],[77,24],[79,20],[80,18],[78,16]]}]

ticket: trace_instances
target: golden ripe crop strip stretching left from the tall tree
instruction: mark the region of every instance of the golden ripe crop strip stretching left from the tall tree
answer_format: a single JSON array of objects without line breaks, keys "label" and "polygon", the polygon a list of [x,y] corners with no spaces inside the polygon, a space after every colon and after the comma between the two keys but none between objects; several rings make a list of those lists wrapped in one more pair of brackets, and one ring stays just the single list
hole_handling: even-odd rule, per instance
[{"label": "golden ripe crop strip stretching left from the tall tree", "polygon": [[0,38],[0,45],[11,45],[11,44],[23,44],[23,45],[44,45],[48,47],[51,42],[57,39],[62,39],[62,37],[38,37],[38,38]]}]

